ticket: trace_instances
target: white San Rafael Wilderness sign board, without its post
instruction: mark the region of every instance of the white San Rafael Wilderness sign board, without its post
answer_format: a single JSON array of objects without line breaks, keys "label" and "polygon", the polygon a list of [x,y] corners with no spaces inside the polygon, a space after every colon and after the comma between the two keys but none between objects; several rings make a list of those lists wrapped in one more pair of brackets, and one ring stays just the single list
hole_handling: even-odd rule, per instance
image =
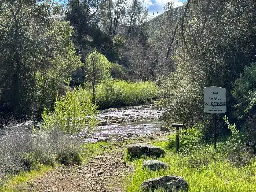
[{"label": "white San Rafael Wilderness sign board, without its post", "polygon": [[226,111],[226,89],[222,87],[204,87],[204,112],[225,113]]}]

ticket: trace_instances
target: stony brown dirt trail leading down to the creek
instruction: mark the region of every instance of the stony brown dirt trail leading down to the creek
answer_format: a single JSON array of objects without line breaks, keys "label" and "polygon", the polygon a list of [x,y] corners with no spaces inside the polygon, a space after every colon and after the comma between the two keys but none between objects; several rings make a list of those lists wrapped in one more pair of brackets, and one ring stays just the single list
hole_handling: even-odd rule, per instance
[{"label": "stony brown dirt trail leading down to the creek", "polygon": [[83,166],[61,166],[34,180],[38,192],[123,192],[122,178],[133,168],[123,162],[124,147],[119,144],[108,154],[102,154]]}]

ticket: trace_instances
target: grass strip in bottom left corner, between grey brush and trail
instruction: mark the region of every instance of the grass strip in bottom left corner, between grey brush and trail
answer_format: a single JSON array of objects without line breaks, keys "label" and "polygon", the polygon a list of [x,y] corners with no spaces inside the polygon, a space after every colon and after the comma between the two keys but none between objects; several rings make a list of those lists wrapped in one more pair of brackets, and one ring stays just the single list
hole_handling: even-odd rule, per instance
[{"label": "grass strip in bottom left corner, between grey brush and trail", "polygon": [[52,166],[40,165],[36,170],[20,172],[17,175],[11,176],[6,181],[5,186],[0,187],[0,192],[28,191],[29,185],[33,185],[36,177],[42,177],[50,170],[53,170]]}]

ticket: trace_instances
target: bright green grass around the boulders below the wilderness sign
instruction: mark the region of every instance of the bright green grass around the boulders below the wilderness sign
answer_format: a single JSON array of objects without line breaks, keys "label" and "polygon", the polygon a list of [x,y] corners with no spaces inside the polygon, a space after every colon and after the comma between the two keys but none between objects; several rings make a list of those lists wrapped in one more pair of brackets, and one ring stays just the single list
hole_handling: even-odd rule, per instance
[{"label": "bright green grass around the boulders below the wilderness sign", "polygon": [[[142,161],[149,158],[131,162],[136,167],[136,172],[127,178],[127,192],[139,192],[140,184],[144,180],[164,175],[184,177],[190,192],[256,192],[256,159],[250,160],[244,167],[236,167],[223,159],[223,154],[214,152],[212,146],[205,146],[202,151],[198,150],[191,156],[185,156],[177,154],[174,148],[170,149],[168,141],[153,144],[167,151],[159,160],[166,162],[170,166],[169,169],[150,172],[142,170]],[[207,158],[207,153],[214,153],[214,158]]]}]

